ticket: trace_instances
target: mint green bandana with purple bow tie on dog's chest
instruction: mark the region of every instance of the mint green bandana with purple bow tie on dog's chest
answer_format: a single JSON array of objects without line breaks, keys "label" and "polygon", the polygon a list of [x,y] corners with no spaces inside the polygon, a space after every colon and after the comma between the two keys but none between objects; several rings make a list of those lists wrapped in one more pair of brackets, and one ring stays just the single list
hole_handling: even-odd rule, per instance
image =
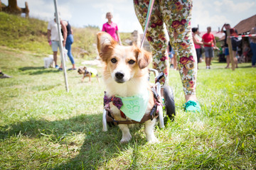
[{"label": "mint green bandana with purple bow tie on dog's chest", "polygon": [[140,122],[146,113],[147,104],[149,102],[149,91],[146,89],[138,95],[130,97],[104,96],[104,104],[112,101],[113,105],[122,111],[128,118]]}]

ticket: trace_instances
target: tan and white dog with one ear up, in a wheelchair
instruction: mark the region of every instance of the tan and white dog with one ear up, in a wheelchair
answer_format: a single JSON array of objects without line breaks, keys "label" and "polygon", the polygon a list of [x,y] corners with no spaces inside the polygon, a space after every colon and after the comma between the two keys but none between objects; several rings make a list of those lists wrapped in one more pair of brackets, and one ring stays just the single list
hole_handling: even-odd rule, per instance
[{"label": "tan and white dog with one ear up, in a wheelchair", "polygon": [[[136,45],[118,45],[111,35],[105,32],[97,33],[97,50],[104,64],[102,77],[106,86],[105,98],[112,98],[112,102],[109,105],[114,120],[135,120],[141,116],[136,112],[141,108],[144,108],[144,110],[141,110],[144,111],[142,116],[150,113],[151,108],[154,106],[154,94],[149,84],[149,69],[147,68],[152,60],[151,53],[140,49]],[[140,101],[129,101],[131,105],[127,104],[127,108],[131,108],[132,111],[128,115],[129,111],[124,112],[127,118],[123,118],[122,112],[119,110],[120,107],[118,108],[117,104],[114,105],[113,98],[122,98],[122,102],[124,102],[123,99],[125,98],[143,96],[142,91],[146,91],[144,94],[148,94],[148,101],[143,101],[146,106],[137,105],[137,102]],[[138,122],[139,120],[136,121]],[[146,140],[150,143],[158,142],[154,135],[155,125],[156,118],[145,121]],[[120,142],[129,142],[132,139],[132,135],[129,132],[128,125],[119,124],[118,126],[122,130]]]}]

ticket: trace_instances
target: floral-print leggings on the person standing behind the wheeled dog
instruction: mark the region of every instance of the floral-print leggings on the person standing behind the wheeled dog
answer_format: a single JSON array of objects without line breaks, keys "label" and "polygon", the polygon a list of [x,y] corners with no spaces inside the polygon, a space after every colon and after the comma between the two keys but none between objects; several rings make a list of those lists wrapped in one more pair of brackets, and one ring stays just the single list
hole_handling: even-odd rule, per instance
[{"label": "floral-print leggings on the person standing behind the wheeled dog", "polygon": [[[134,0],[134,9],[144,29],[149,0]],[[192,0],[155,0],[146,38],[153,55],[153,68],[164,72],[168,84],[169,58],[164,23],[174,47],[185,95],[196,94],[197,57],[191,34]]]}]

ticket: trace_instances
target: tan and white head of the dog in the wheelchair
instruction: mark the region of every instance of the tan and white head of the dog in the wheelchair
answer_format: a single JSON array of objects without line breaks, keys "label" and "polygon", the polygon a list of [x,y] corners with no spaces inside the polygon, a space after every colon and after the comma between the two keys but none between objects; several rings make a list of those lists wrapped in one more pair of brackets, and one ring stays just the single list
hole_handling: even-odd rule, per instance
[{"label": "tan and white head of the dog in the wheelchair", "polygon": [[105,32],[97,33],[97,49],[105,63],[105,77],[112,77],[117,83],[124,83],[134,77],[142,77],[151,62],[151,54],[133,46],[118,45]]}]

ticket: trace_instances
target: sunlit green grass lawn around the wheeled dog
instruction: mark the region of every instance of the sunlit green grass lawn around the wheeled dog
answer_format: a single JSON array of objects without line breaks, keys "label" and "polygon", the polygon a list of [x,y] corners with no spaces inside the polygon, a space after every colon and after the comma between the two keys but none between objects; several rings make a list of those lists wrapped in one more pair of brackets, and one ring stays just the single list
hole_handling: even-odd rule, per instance
[{"label": "sunlit green grass lawn around the wheeled dog", "polygon": [[[120,144],[122,132],[102,132],[105,87],[77,72],[43,69],[43,56],[0,47],[0,169],[255,169],[256,76],[250,63],[210,70],[200,63],[197,96],[201,113],[185,113],[178,72],[171,70],[177,116],[156,126],[158,144],[144,126]],[[78,59],[82,62],[82,59]],[[68,63],[68,67],[70,64]],[[97,67],[101,75],[101,68]]]}]

